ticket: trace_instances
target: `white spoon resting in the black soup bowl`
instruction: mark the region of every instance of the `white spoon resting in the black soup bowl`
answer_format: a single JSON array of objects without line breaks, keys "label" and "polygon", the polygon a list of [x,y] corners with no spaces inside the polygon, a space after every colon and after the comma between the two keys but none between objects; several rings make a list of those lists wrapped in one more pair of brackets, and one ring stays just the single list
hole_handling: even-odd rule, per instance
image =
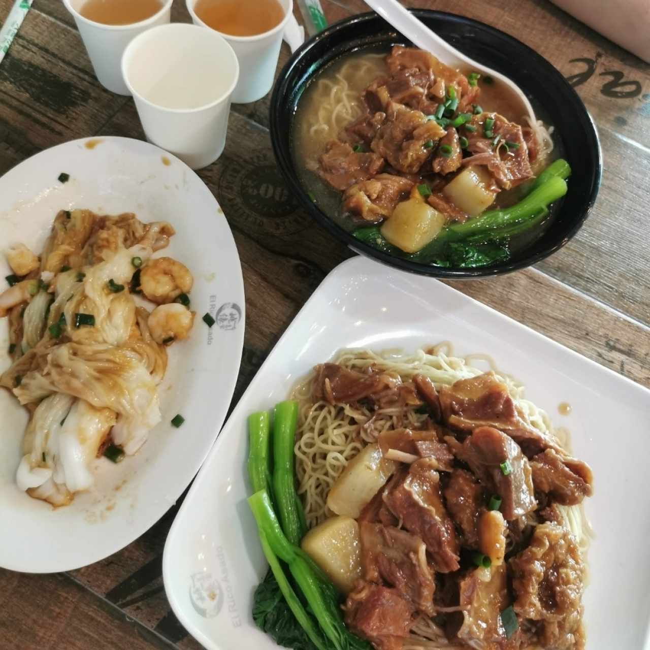
[{"label": "white spoon resting in the black soup bowl", "polygon": [[504,77],[499,72],[486,68],[481,63],[466,57],[463,53],[459,52],[455,47],[449,45],[440,36],[434,34],[424,23],[421,23],[413,14],[408,12],[397,0],[365,0],[370,8],[374,9],[382,18],[393,25],[400,34],[406,36],[414,45],[420,49],[424,49],[441,62],[450,66],[450,68],[463,68],[469,66],[471,70],[480,72],[484,77],[493,77],[499,79],[509,88],[512,88],[513,93],[521,101],[521,111],[517,110],[517,114],[528,115],[531,120],[531,125],[536,123],[535,113],[532,110],[530,101],[526,98],[525,94],[521,92],[519,86],[510,81],[508,77]]}]

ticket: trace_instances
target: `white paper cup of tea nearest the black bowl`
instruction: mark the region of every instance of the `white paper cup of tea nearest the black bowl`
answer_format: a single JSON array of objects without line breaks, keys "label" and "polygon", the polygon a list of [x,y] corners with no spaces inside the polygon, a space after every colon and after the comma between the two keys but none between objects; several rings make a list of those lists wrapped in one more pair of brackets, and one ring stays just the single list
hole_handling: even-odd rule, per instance
[{"label": "white paper cup of tea nearest the black bowl", "polygon": [[295,20],[293,0],[278,0],[285,12],[285,17],[273,29],[255,36],[232,36],[208,27],[194,13],[194,5],[197,1],[185,0],[194,25],[201,25],[201,27],[221,34],[235,50],[237,59],[239,59],[239,83],[233,92],[233,102],[248,104],[263,98],[273,86],[282,34],[287,22]]}]

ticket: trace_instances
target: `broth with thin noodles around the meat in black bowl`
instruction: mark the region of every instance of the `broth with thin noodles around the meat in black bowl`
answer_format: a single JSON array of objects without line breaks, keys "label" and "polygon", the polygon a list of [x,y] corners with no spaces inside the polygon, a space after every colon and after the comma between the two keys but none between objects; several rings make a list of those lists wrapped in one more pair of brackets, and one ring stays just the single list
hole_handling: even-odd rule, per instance
[{"label": "broth with thin noodles around the meat in black bowl", "polygon": [[[369,224],[342,209],[341,192],[316,174],[318,159],[324,153],[326,144],[336,139],[346,125],[365,112],[363,91],[377,77],[389,75],[385,62],[388,54],[389,51],[385,49],[365,50],[331,62],[305,88],[292,122],[293,153],[302,185],[307,188],[312,200],[320,209],[348,232]],[[471,71],[460,72],[467,75]],[[507,120],[526,125],[523,116],[517,114],[518,100],[508,86],[491,78],[479,79],[478,85],[481,93],[477,101],[484,111],[497,112]],[[545,115],[540,107],[534,105],[534,109],[538,120],[544,120]],[[552,132],[552,129],[549,131]],[[552,151],[540,150],[540,155],[531,164],[535,175],[560,157],[562,151],[558,144],[554,143]],[[517,203],[530,191],[532,182],[526,181],[510,190],[499,192],[491,208],[508,207]],[[553,214],[560,202],[556,201],[551,206],[549,216],[543,222],[521,235],[510,238],[508,245],[512,253],[523,250],[541,237],[551,225]]]}]

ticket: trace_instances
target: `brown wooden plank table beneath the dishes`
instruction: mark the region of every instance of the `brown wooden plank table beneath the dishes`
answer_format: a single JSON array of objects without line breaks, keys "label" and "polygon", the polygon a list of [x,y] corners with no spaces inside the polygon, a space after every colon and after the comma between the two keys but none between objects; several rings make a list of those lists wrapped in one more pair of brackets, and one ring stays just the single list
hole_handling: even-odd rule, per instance
[{"label": "brown wooden plank table beneath the dishes", "polygon": [[[577,88],[603,146],[595,209],[567,246],[535,268],[450,284],[650,386],[650,66],[547,0],[405,4],[482,20],[536,49]],[[11,5],[0,0],[0,20]],[[362,0],[323,5],[330,23],[365,10]],[[172,18],[188,21],[181,0]],[[283,45],[279,67],[288,57]],[[282,192],[267,127],[268,98],[233,106],[224,155],[199,172],[233,229],[246,285],[233,403],[318,283],[352,254]],[[133,101],[99,86],[62,2],[36,0],[0,64],[0,174],[41,149],[93,135],[142,138]],[[280,198],[259,200],[263,183]],[[162,586],[162,547],[181,500],[140,539],[97,564],[59,575],[0,569],[0,648],[199,648]]]}]

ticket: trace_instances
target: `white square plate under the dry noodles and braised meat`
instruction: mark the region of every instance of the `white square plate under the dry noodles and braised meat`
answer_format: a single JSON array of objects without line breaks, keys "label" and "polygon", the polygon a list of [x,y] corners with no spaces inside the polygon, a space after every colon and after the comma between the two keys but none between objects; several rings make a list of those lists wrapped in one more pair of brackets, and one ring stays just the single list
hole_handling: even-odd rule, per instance
[{"label": "white square plate under the dry noodles and braised meat", "polygon": [[[321,283],[259,369],[170,530],[162,560],[167,597],[206,648],[278,648],[251,616],[266,562],[246,502],[248,415],[286,399],[298,378],[341,348],[411,352],[441,341],[452,341],[459,356],[490,354],[500,369],[525,382],[526,396],[556,426],[571,430],[575,454],[595,474],[595,495],[586,501],[596,533],[584,597],[588,647],[643,647],[650,391],[435,279],[355,257]],[[571,415],[558,415],[561,402],[571,404]]]}]

